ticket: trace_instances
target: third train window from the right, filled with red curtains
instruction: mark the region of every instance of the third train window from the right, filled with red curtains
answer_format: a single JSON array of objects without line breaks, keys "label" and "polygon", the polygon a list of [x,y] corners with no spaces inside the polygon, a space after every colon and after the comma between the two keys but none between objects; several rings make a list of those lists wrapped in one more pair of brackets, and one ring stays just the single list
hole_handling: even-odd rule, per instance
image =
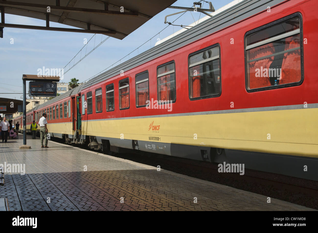
[{"label": "third train window from the right, filled with red curtains", "polygon": [[157,67],[157,88],[159,104],[176,102],[175,63]]}]

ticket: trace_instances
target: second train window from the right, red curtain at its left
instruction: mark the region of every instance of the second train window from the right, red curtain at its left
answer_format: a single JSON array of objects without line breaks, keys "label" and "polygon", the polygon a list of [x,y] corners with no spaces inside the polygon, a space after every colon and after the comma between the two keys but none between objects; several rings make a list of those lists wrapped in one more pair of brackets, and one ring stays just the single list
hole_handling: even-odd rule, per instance
[{"label": "second train window from the right, red curtain at its left", "polygon": [[189,97],[203,99],[221,94],[220,47],[212,45],[189,55]]}]

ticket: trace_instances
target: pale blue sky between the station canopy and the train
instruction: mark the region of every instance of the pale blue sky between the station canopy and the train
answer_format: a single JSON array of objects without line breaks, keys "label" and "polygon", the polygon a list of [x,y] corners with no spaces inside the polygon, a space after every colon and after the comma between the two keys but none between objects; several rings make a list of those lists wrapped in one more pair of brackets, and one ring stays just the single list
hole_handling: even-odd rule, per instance
[{"label": "pale blue sky between the station canopy and the train", "polygon": [[[191,7],[193,2],[194,0],[178,0],[172,5]],[[230,2],[232,2],[232,0],[212,1],[212,4],[217,10]],[[208,4],[204,3],[203,7],[208,8]],[[77,78],[82,82],[106,69],[109,65],[125,57],[128,53],[135,50],[165,28],[168,24],[163,23],[164,17],[178,11],[182,10],[165,9],[126,38],[122,40],[109,38],[79,64],[68,71],[64,75],[63,82],[69,82],[72,78]],[[172,22],[180,15],[168,17],[168,21]],[[193,17],[195,20],[198,20],[199,17],[202,18],[204,16],[204,14],[200,15],[198,12],[192,12],[192,15],[190,12],[186,12],[174,24],[189,25],[194,22]],[[5,22],[8,24],[45,26],[44,20],[9,14],[5,14]],[[52,22],[50,22],[50,26],[69,27]],[[163,39],[180,29],[180,26],[170,25],[160,33],[160,38]],[[45,66],[45,68],[63,68],[84,46],[84,38],[87,38],[88,41],[92,36],[93,34],[89,33],[4,28],[3,38],[0,38],[0,87],[9,88],[22,93],[22,74],[37,74],[37,70],[43,66]],[[11,38],[13,38],[13,44],[10,44]],[[96,35],[95,44],[97,45],[101,39],[104,40],[105,38],[105,35],[102,37],[101,35]],[[152,39],[152,47],[156,43],[157,38],[159,38],[159,35]],[[89,43],[88,45],[87,51],[93,47],[93,43]],[[143,45],[139,49],[139,52],[149,48],[150,42]],[[135,52],[133,55],[137,55],[137,53]],[[7,92],[10,91],[0,88],[0,93]],[[12,99],[20,99],[21,95],[22,94],[0,94],[1,97]]]}]

